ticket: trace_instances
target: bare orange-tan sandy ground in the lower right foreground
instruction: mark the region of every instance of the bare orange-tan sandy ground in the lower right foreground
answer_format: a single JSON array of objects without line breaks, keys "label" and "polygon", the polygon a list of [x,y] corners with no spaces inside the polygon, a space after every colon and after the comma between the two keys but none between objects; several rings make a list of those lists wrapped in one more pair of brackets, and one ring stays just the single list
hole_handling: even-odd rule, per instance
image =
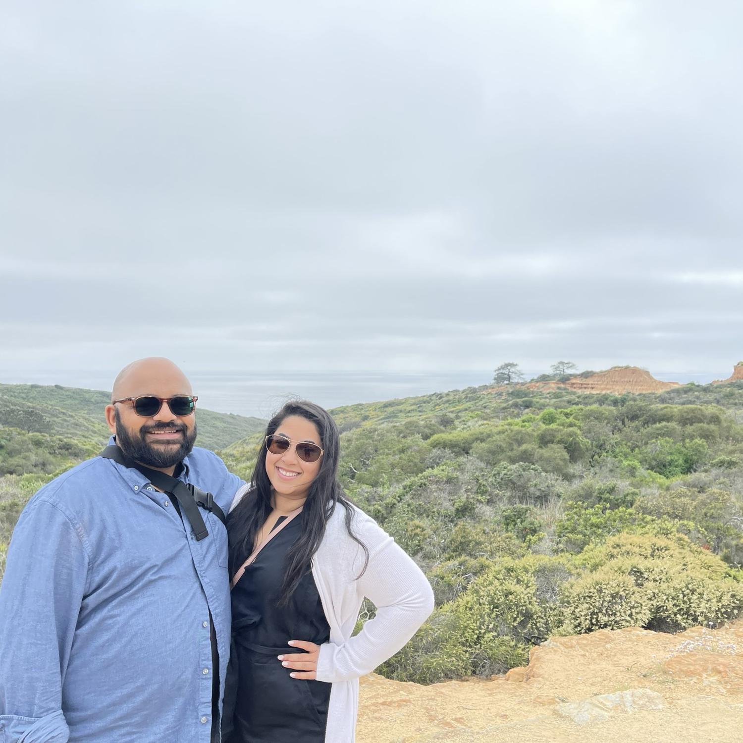
[{"label": "bare orange-tan sandy ground in the lower right foreground", "polygon": [[[611,707],[619,697],[625,706]],[[583,721],[568,704],[581,701]],[[557,637],[490,680],[361,680],[357,743],[429,741],[743,743],[743,620]]]}]

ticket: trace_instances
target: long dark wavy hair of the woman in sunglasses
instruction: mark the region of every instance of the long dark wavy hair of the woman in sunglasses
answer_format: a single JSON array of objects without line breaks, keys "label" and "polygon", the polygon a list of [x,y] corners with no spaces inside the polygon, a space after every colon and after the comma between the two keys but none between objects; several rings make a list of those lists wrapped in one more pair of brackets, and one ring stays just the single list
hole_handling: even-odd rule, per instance
[{"label": "long dark wavy hair of the woman in sunglasses", "polygon": [[[285,418],[299,415],[317,426],[320,446],[324,450],[317,477],[314,478],[302,509],[302,533],[287,554],[287,568],[281,588],[279,606],[286,606],[299,585],[299,580],[310,569],[311,559],[325,534],[325,525],[338,504],[345,508],[345,528],[354,542],[364,551],[364,566],[369,563],[369,550],[354,534],[353,510],[338,482],[338,458],[340,434],[331,415],[319,405],[308,400],[291,400],[268,421],[266,436],[279,429]],[[271,505],[271,482],[266,473],[266,440],[261,444],[256,467],[250,478],[250,490],[227,517],[227,533],[230,539],[230,575],[236,574],[240,565],[253,552],[256,536],[265,524]]]}]

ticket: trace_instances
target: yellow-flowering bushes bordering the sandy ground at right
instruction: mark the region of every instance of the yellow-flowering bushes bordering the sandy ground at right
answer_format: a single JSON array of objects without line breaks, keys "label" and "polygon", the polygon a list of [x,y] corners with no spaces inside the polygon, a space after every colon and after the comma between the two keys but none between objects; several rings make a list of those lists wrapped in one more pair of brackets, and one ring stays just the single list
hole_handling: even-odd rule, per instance
[{"label": "yellow-flowering bushes bordering the sandy ground at right", "polygon": [[[442,591],[442,574],[454,591]],[[433,571],[441,604],[380,672],[430,683],[525,663],[550,635],[640,626],[678,632],[743,616],[743,584],[682,535],[619,534],[576,557],[527,555]],[[464,585],[463,585],[464,584]]]}]

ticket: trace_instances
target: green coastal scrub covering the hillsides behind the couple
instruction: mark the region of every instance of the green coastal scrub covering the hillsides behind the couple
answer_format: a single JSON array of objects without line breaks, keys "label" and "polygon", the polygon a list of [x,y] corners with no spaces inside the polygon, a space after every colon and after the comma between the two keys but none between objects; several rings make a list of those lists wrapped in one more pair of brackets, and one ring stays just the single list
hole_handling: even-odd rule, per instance
[{"label": "green coastal scrub covering the hillsides behind the couple", "polygon": [[[381,667],[389,678],[487,676],[524,664],[554,635],[678,632],[742,615],[743,382],[585,394],[559,385],[564,366],[552,371],[543,387],[332,411],[343,487],[435,591],[432,617]],[[38,390],[16,395],[24,427],[7,418],[4,390],[0,551],[39,484],[106,435],[91,438],[84,391],[51,408]],[[247,478],[260,441],[248,432],[214,448]],[[373,614],[365,606],[363,617]]]}]

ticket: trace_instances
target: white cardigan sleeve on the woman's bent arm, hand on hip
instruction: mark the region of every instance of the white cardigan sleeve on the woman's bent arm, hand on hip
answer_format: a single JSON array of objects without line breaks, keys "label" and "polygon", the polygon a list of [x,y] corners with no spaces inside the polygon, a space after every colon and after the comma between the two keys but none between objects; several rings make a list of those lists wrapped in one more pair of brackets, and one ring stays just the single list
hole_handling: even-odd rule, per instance
[{"label": "white cardigan sleeve on the woman's bent arm, hand on hip", "polygon": [[343,645],[320,646],[318,681],[348,681],[373,671],[395,655],[433,611],[426,576],[392,536],[369,517],[357,526],[357,536],[369,549],[369,564],[357,580],[357,591],[374,603],[377,613]]}]

